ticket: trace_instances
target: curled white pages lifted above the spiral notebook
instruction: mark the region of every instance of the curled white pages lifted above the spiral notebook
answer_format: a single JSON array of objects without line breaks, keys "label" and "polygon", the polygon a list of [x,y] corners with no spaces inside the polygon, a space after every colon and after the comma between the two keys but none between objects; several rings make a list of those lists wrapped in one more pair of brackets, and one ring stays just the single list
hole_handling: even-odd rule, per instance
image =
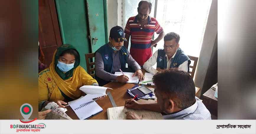
[{"label": "curled white pages lifted above the spiral notebook", "polygon": [[[108,87],[100,87],[100,86],[91,86],[91,85],[85,85],[79,88],[79,90],[83,91],[87,95],[106,95],[106,90]],[[112,88],[109,88],[112,89]]]}]

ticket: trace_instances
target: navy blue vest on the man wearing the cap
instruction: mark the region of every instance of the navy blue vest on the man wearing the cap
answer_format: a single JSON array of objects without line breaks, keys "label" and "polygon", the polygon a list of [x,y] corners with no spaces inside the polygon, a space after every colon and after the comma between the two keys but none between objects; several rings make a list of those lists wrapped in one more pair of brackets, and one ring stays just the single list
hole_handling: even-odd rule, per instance
[{"label": "navy blue vest on the man wearing the cap", "polygon": [[[112,55],[114,50],[109,46],[109,44],[107,43],[103,45],[96,52],[101,54],[102,60],[104,62],[104,70],[109,73],[115,73],[115,72],[112,72],[112,65],[113,65]],[[121,68],[125,68],[125,64],[127,62],[127,49],[125,47],[122,47],[118,53],[119,53]]]}]

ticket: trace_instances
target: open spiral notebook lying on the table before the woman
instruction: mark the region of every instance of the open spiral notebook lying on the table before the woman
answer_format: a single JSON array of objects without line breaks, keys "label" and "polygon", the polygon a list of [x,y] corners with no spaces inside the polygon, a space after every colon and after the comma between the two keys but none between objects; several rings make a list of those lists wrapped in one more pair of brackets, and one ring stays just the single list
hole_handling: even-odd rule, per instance
[{"label": "open spiral notebook lying on the table before the woman", "polygon": [[103,111],[103,109],[93,100],[85,104],[74,102],[70,104],[70,107],[74,110],[80,120],[89,119]]}]

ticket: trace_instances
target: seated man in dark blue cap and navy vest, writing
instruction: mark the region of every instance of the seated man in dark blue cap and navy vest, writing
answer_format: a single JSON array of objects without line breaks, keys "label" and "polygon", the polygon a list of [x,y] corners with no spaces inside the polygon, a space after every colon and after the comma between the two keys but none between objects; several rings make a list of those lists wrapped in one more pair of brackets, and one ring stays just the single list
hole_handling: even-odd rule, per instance
[{"label": "seated man in dark blue cap and navy vest, writing", "polygon": [[138,76],[139,80],[144,79],[140,65],[133,59],[128,50],[123,47],[127,42],[122,27],[115,26],[110,30],[109,42],[95,52],[95,79],[100,86],[109,81],[127,82],[126,75],[114,75],[115,72],[127,70],[125,64],[135,71],[133,77]]}]

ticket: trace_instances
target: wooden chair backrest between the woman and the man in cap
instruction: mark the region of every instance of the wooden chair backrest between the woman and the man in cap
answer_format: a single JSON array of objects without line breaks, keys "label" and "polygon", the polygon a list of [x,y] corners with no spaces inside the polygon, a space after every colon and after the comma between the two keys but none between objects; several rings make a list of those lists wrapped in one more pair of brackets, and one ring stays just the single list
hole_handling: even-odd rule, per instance
[{"label": "wooden chair backrest between the woman and the man in cap", "polygon": [[95,57],[95,53],[85,54],[87,73],[92,77],[95,76],[95,68],[94,68],[95,62],[93,62],[93,57]]}]

